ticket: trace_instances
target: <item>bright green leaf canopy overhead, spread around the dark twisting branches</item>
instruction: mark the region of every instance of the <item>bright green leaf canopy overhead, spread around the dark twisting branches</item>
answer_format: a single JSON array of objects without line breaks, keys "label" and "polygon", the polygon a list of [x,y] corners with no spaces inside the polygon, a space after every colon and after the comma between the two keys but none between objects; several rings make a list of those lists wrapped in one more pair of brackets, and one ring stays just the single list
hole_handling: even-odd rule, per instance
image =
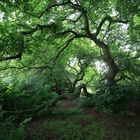
[{"label": "bright green leaf canopy overhead, spread around the dark twisting branches", "polygon": [[[106,72],[110,68],[110,62],[106,60],[111,59],[119,69],[114,77],[117,77],[117,73],[122,75],[122,71],[124,73],[124,69],[127,69],[127,72],[125,71],[127,74],[121,80],[126,80],[126,77],[131,75],[135,78],[138,75],[139,62],[127,65],[124,61],[129,62],[133,58],[134,61],[139,61],[137,53],[139,52],[137,49],[139,33],[136,32],[139,28],[138,3],[138,0],[136,2],[3,1],[0,5],[2,15],[0,43],[3,46],[0,51],[1,61],[22,57],[21,60],[9,62],[3,70],[8,75],[9,71],[10,73],[12,71],[11,68],[15,68],[16,71],[31,70],[32,74],[36,73],[33,71],[35,68],[41,69],[42,72],[46,71],[48,75],[53,71],[51,80],[54,82],[56,79],[57,83],[62,83],[60,87],[63,90],[65,71],[71,58],[81,59],[84,63],[88,62],[88,67],[94,66],[97,71],[95,66],[97,60],[100,63],[106,63]],[[47,12],[48,10],[50,12]],[[108,46],[109,54],[104,52],[101,44]],[[123,61],[121,56],[125,56]],[[10,70],[7,69],[8,67]],[[27,71],[24,72],[28,73]],[[72,77],[73,72],[70,73]],[[100,72],[97,77],[102,77],[103,74],[106,73]],[[104,79],[107,80],[106,77]]]}]

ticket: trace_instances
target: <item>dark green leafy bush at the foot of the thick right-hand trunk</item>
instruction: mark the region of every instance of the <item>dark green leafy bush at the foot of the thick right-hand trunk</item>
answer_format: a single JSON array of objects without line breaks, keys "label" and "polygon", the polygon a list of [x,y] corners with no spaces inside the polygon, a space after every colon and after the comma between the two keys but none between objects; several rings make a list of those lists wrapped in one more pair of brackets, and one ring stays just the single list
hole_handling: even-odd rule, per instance
[{"label": "dark green leafy bush at the foot of the thick right-hand trunk", "polygon": [[94,106],[108,112],[121,112],[128,109],[128,105],[139,96],[138,84],[102,87],[92,98],[84,99],[83,107]]}]

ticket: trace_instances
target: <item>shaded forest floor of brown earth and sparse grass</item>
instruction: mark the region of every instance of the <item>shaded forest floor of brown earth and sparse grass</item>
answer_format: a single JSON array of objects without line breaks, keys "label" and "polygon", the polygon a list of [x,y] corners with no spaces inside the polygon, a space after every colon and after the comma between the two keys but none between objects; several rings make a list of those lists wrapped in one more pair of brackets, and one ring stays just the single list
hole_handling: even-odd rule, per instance
[{"label": "shaded forest floor of brown earth and sparse grass", "polygon": [[52,115],[32,120],[28,140],[140,140],[140,101],[128,114],[81,109],[77,101],[62,100]]}]

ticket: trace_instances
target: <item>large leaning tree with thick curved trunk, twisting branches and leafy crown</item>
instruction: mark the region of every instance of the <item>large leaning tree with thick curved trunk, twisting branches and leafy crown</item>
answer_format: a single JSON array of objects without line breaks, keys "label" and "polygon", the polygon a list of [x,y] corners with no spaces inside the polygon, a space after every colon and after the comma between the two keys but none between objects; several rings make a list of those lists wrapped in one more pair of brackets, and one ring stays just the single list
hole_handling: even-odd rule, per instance
[{"label": "large leaning tree with thick curved trunk, twisting branches and leafy crown", "polygon": [[[139,49],[131,49],[134,46],[131,37],[137,34],[132,34],[132,30],[139,27],[138,3],[139,0],[0,2],[3,15],[0,60],[22,59],[28,55],[33,60],[37,58],[31,65],[38,66],[41,62],[38,67],[53,71],[58,61],[67,55],[66,49],[74,48],[76,41],[80,47],[82,38],[100,50],[100,60],[107,69],[105,84],[114,86],[130,79],[131,72],[124,74],[124,71],[130,68],[131,58],[139,65]],[[138,45],[139,41],[134,48]],[[125,55],[127,46],[129,53]]]}]

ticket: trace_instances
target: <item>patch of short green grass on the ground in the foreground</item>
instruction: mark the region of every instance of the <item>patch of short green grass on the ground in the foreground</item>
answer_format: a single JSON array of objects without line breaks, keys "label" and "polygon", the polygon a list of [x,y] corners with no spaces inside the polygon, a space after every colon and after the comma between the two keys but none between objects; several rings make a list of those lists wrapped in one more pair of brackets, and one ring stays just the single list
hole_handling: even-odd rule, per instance
[{"label": "patch of short green grass on the ground in the foreground", "polygon": [[40,123],[36,131],[42,133],[42,140],[93,140],[93,137],[95,140],[101,140],[106,137],[105,130],[99,122],[94,120],[93,123],[93,120],[90,115],[74,115],[62,120],[52,119]]}]

